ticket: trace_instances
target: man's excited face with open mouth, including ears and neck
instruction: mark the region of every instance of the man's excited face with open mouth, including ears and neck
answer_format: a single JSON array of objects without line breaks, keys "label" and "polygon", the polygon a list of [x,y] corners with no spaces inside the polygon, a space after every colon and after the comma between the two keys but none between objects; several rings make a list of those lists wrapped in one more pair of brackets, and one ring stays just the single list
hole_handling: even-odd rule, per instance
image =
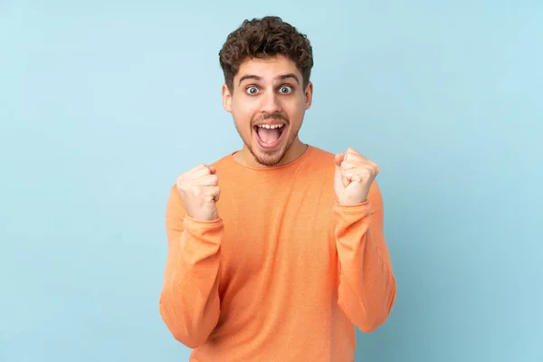
[{"label": "man's excited face with open mouth, including ears and neck", "polygon": [[245,160],[272,167],[299,157],[298,133],[311,98],[312,84],[303,88],[301,72],[287,57],[243,62],[233,91],[223,86],[223,103],[243,139]]}]

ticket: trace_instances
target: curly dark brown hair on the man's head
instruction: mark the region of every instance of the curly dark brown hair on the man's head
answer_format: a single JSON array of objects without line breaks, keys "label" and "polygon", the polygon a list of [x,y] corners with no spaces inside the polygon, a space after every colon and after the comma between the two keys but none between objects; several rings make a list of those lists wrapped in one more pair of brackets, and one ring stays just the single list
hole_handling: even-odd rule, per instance
[{"label": "curly dark brown hair on the man's head", "polygon": [[274,55],[284,55],[296,63],[306,88],[313,67],[313,51],[307,36],[278,16],[244,20],[239,28],[228,35],[219,52],[228,89],[233,90],[233,77],[247,58]]}]

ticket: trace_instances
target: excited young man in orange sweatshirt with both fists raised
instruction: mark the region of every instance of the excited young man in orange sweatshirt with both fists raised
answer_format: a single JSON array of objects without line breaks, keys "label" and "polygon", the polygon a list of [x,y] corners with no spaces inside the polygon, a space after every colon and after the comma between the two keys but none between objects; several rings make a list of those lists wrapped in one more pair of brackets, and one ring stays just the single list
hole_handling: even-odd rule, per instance
[{"label": "excited young man in orange sweatshirt with both fists raised", "polygon": [[313,60],[290,24],[245,21],[220,63],[243,149],[171,188],[160,314],[191,361],[353,361],[395,301],[379,168],[300,141]]}]

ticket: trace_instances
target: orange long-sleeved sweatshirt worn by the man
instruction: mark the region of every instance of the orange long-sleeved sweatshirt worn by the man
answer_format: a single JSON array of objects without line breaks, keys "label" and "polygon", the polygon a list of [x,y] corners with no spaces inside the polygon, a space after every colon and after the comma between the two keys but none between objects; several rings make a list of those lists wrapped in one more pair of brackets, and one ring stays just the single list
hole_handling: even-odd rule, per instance
[{"label": "orange long-sleeved sweatshirt worn by the man", "polygon": [[395,301],[374,182],[366,203],[334,194],[334,155],[309,147],[289,165],[213,164],[219,219],[167,201],[160,314],[194,362],[350,362],[355,326],[382,325]]}]

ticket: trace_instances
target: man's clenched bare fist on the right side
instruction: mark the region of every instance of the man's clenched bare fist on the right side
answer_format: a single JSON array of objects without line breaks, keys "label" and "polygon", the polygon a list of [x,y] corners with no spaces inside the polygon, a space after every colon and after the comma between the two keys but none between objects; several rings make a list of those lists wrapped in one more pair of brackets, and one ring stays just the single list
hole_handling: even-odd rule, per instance
[{"label": "man's clenched bare fist on the right side", "polygon": [[334,190],[339,205],[358,205],[367,201],[369,188],[379,173],[375,162],[353,148],[335,157]]}]

